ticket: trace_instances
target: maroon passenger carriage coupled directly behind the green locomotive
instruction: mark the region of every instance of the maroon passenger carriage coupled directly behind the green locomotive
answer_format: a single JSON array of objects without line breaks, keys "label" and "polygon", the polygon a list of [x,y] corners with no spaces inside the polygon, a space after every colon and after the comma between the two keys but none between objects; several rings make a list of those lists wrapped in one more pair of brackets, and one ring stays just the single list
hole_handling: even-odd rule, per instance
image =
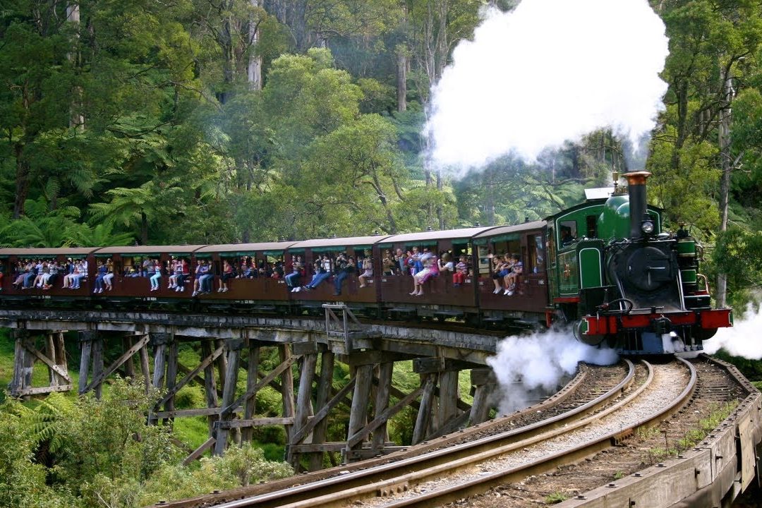
[{"label": "maroon passenger carriage coupled directly behind the green locomotive", "polygon": [[[544,321],[548,306],[546,222],[491,228],[475,235],[473,244],[482,319],[526,324]],[[497,290],[494,276],[498,257],[514,256],[523,267],[507,281],[498,276]],[[515,283],[515,287],[511,288],[511,283]]]}]

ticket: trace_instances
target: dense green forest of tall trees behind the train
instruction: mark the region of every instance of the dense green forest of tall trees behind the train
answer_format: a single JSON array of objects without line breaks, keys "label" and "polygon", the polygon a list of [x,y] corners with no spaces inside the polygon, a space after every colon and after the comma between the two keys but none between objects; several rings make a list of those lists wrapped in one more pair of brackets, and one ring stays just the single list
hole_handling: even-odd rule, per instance
[{"label": "dense green forest of tall trees behind the train", "polygon": [[[407,232],[577,203],[626,168],[610,131],[457,180],[424,156],[453,48],[485,5],[515,3],[5,0],[0,244]],[[651,4],[670,55],[650,197],[719,246],[731,297],[748,298],[762,278],[738,270],[762,251],[762,7]]]}]

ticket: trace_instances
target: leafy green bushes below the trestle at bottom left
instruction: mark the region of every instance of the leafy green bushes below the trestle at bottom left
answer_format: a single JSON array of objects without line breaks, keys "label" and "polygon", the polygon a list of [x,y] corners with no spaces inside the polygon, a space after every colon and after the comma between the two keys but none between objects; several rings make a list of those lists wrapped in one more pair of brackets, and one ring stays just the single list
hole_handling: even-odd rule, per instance
[{"label": "leafy green bushes below the trestle at bottom left", "polygon": [[[293,474],[274,443],[178,465],[171,430],[146,425],[159,394],[118,378],[109,388],[101,400],[53,394],[0,405],[0,506],[137,508]],[[194,420],[205,434],[206,419]]]}]

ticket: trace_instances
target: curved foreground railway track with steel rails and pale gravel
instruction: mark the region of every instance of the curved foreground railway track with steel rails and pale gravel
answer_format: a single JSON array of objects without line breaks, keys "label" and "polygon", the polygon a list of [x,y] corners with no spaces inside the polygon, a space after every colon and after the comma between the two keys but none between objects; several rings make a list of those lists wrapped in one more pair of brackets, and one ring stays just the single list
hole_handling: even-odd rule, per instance
[{"label": "curved foreground railway track with steel rails and pale gravel", "polygon": [[[666,374],[661,373],[665,369],[677,371],[677,374],[673,373],[665,381]],[[675,382],[676,376],[681,382]],[[357,500],[363,500],[363,504],[371,506],[384,506],[385,502],[392,503],[390,506],[432,506],[446,503],[448,500],[483,492],[494,484],[511,481],[511,478],[533,474],[533,471],[552,468],[555,464],[573,461],[590,455],[597,449],[607,448],[612,441],[622,439],[638,425],[648,423],[653,418],[664,417],[665,412],[682,404],[693,390],[695,382],[695,370],[684,362],[656,367],[642,363],[636,367],[628,361],[606,368],[582,367],[575,379],[543,404],[517,411],[510,417],[491,420],[422,443],[405,452],[358,462],[340,471],[327,470],[320,471],[319,474],[303,475],[298,478],[303,482],[300,485],[294,485],[292,479],[255,486],[242,499],[235,497],[241,497],[243,492],[229,491],[206,499],[167,503],[163,506],[296,508],[344,506]],[[677,390],[679,387],[682,390]],[[656,394],[664,392],[672,393],[670,400],[655,402],[654,399],[658,398]],[[646,401],[642,402],[644,397]],[[637,401],[641,401],[639,404],[642,406],[640,417],[623,420],[623,417],[617,416],[625,411],[623,407],[632,407],[638,404]],[[664,410],[655,411],[654,407],[657,406],[664,407]],[[620,420],[614,420],[615,418]],[[607,427],[604,427],[606,421]],[[603,430],[599,430],[595,436],[586,436],[585,430],[590,428]],[[580,443],[563,453],[542,451],[552,439],[563,442],[571,439],[570,436],[575,436],[574,439]],[[505,457],[509,456],[514,457],[511,459],[513,465],[498,465],[506,463]],[[518,460],[516,457],[523,458]],[[515,463],[517,460],[518,463]],[[492,471],[495,467],[499,471]],[[323,478],[319,478],[321,474]],[[447,488],[435,486],[453,474],[468,479],[459,481],[455,486],[448,485]],[[407,497],[404,496],[406,492]],[[394,496],[400,494],[404,498],[396,500]],[[220,504],[223,499],[230,501]]]}]

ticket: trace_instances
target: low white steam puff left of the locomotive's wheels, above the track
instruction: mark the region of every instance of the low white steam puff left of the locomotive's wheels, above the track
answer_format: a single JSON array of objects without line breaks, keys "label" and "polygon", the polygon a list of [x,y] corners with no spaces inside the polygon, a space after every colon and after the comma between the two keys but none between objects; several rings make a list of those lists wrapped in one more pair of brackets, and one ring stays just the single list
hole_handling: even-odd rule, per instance
[{"label": "low white steam puff left of the locomotive's wheels, above the track", "polygon": [[578,362],[610,365],[618,359],[616,351],[583,344],[571,331],[552,330],[504,338],[487,363],[500,384],[500,414],[509,414],[527,407],[533,391],[555,390],[565,376],[576,372]]}]

